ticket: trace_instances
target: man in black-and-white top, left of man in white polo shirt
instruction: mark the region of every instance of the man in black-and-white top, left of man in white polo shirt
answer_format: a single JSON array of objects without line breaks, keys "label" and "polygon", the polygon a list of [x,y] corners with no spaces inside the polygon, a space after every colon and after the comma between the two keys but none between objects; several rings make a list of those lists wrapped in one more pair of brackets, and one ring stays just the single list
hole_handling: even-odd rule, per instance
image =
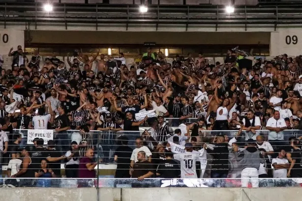
[{"label": "man in black-and-white top, left of man in white polo shirt", "polygon": [[259,135],[259,131],[256,132],[256,130],[260,130],[261,127],[261,121],[259,116],[254,115],[254,111],[248,110],[246,113],[247,117],[244,117],[242,119],[243,122],[243,130],[245,130],[245,140],[252,138],[253,140],[256,140],[256,136]]}]

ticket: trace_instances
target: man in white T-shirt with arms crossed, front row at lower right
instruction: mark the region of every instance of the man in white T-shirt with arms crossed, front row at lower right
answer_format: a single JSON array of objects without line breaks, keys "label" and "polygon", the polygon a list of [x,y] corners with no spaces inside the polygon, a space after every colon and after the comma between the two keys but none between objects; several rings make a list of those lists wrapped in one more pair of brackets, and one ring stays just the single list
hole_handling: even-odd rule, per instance
[{"label": "man in white T-shirt with arms crossed, front row at lower right", "polygon": [[272,167],[273,170],[273,178],[286,178],[287,177],[287,169],[289,169],[290,164],[285,157],[285,150],[281,149],[278,157],[272,159]]}]

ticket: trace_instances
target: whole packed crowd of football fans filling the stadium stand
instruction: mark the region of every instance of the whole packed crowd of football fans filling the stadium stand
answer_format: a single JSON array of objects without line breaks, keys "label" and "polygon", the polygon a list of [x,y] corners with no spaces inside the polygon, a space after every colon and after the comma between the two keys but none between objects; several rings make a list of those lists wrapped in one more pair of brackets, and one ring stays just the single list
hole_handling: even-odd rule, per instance
[{"label": "whole packed crowd of football fans filling the stadium stand", "polygon": [[[95,177],[98,161],[115,161],[116,177],[197,178],[211,170],[208,177],[225,178],[231,153],[253,186],[258,176],[302,177],[299,133],[293,130],[302,129],[302,56],[258,58],[251,65],[229,50],[224,63],[191,54],[167,63],[161,52],[149,50],[126,66],[123,53],[89,59],[75,51],[65,66],[56,57],[41,61],[37,52],[28,58],[21,46],[12,50],[12,69],[0,74],[0,124],[9,133],[0,135],[0,164],[3,158],[19,160],[22,147],[23,160],[12,162],[21,167],[12,177],[60,176],[60,167],[50,167],[67,160],[67,177]],[[152,117],[136,120],[150,110]],[[141,134],[139,126],[148,129]],[[31,149],[26,134],[12,134],[13,129],[55,130],[48,149],[56,151],[33,160],[43,139],[35,139]],[[70,139],[70,129],[80,134]],[[90,130],[102,131],[101,137]],[[31,173],[23,171],[25,164],[35,166]]]}]

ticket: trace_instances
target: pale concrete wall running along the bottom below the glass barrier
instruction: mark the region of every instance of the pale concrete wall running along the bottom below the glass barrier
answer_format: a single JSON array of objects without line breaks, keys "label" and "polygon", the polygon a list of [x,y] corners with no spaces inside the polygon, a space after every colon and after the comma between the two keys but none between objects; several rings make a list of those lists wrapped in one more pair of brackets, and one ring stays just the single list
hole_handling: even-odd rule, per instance
[{"label": "pale concrete wall running along the bottom below the glass barrier", "polygon": [[[99,201],[300,201],[302,188],[100,188]],[[1,201],[97,201],[95,188],[1,188]]]}]

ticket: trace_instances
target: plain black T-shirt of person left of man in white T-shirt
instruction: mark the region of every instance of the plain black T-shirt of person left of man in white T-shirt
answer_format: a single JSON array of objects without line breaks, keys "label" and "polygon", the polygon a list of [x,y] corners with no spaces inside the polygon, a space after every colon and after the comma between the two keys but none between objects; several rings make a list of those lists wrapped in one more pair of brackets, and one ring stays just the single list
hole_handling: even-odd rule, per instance
[{"label": "plain black T-shirt of person left of man in white T-shirt", "polygon": [[119,146],[114,153],[114,155],[118,156],[118,166],[117,169],[129,169],[130,167],[130,158],[133,149],[129,146]]}]

